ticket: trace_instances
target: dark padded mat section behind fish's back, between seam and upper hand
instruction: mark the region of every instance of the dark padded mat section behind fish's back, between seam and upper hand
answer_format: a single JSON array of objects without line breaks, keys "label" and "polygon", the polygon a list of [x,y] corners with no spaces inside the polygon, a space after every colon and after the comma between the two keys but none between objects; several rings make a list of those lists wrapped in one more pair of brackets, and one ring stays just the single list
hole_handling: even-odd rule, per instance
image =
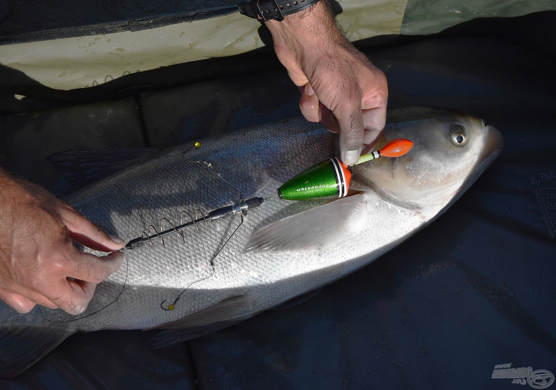
[{"label": "dark padded mat section behind fish's back, between seam and upper hand", "polygon": [[149,146],[168,147],[300,115],[299,92],[285,69],[266,72],[264,78],[274,85],[250,87],[245,77],[231,77],[142,93],[139,105]]}]

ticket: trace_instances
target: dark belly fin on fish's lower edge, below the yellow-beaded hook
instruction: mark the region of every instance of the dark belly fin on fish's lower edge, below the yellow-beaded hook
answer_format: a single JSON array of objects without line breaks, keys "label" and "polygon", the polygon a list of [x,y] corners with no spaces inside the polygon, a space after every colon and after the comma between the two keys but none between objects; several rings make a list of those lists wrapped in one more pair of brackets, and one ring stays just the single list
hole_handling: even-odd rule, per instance
[{"label": "dark belly fin on fish's lower edge, below the yellow-beaded hook", "polygon": [[249,309],[251,303],[250,298],[234,296],[176,321],[143,330],[164,329],[151,341],[155,348],[167,347],[205,336],[252,317],[253,314],[241,315]]}]

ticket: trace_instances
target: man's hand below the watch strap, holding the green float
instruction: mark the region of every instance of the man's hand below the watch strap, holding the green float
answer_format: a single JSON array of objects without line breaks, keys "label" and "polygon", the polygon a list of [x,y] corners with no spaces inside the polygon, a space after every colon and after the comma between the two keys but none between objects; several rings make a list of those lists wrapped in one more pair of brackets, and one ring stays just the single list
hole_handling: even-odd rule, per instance
[{"label": "man's hand below the watch strap, holding the green float", "polygon": [[384,73],[342,36],[324,0],[266,24],[276,55],[302,91],[301,112],[340,133],[340,158],[355,164],[363,144],[373,147],[384,129]]}]

